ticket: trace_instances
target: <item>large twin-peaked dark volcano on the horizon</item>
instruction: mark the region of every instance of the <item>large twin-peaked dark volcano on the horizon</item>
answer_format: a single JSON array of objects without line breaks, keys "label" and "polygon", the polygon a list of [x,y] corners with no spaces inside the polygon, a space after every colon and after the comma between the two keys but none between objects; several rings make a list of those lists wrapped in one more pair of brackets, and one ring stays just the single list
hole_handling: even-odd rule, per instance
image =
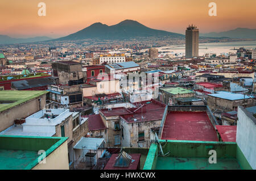
[{"label": "large twin-peaked dark volcano on the horizon", "polygon": [[113,26],[102,23],[94,23],[71,35],[55,40],[83,40],[83,39],[130,39],[135,37],[184,37],[179,33],[155,30],[148,28],[134,20],[124,20]]}]

